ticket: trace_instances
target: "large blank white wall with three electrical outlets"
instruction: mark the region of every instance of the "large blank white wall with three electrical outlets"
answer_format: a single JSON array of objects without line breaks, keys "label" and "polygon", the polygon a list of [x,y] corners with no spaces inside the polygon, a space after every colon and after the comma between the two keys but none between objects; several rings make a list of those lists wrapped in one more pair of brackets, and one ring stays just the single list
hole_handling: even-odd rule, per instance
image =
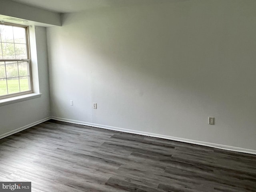
[{"label": "large blank white wall with three electrical outlets", "polygon": [[256,150],[255,6],[188,0],[64,14],[62,27],[47,28],[52,116]]}]

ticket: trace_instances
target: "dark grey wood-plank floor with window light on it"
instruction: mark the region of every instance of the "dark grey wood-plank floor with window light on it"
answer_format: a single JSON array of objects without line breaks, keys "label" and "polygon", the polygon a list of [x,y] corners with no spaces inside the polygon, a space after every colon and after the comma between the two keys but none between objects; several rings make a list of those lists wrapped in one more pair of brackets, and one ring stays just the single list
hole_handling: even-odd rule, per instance
[{"label": "dark grey wood-plank floor with window light on it", "polygon": [[50,120],[0,140],[32,192],[256,192],[256,156]]}]

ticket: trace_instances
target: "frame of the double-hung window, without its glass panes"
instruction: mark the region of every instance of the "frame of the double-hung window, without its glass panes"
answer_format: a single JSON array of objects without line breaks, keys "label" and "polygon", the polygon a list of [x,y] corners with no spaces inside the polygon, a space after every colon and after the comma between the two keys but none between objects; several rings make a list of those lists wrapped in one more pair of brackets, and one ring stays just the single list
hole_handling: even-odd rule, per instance
[{"label": "frame of the double-hung window, without its glass panes", "polygon": [[[6,98],[12,98],[16,96],[21,96],[21,95],[26,95],[26,94],[31,94],[33,93],[33,80],[32,80],[32,68],[31,68],[31,57],[30,57],[30,43],[29,43],[29,31],[28,28],[29,26],[24,26],[24,25],[19,25],[19,24],[13,24],[13,23],[0,23],[1,25],[7,25],[7,26],[16,26],[16,27],[22,27],[25,29],[26,33],[26,48],[27,48],[27,59],[2,59],[0,58],[0,62],[28,62],[28,68],[29,68],[29,80],[30,80],[30,90],[24,91],[24,92],[18,92],[18,93],[13,93],[13,94],[7,94],[4,96],[0,96],[0,100],[6,99]],[[18,76],[20,77],[20,76]],[[7,81],[7,76],[6,76],[6,81]],[[8,89],[8,87],[7,87]]]}]

